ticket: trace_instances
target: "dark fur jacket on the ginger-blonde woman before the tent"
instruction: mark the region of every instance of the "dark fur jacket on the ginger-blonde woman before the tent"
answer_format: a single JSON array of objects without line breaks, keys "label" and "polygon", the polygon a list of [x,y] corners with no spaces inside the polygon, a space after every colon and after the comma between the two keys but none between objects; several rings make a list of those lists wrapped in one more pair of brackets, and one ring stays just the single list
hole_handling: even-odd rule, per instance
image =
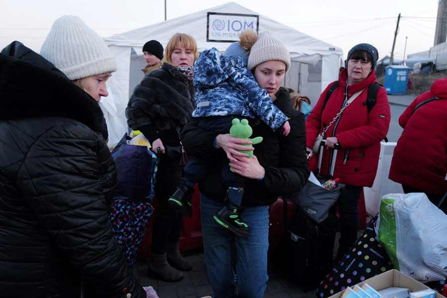
[{"label": "dark fur jacket on the ginger-blonde woman before the tent", "polygon": [[164,63],[135,87],[126,109],[127,124],[141,130],[150,143],[160,138],[164,145],[180,145],[176,128],[191,118],[194,93],[192,82]]}]

